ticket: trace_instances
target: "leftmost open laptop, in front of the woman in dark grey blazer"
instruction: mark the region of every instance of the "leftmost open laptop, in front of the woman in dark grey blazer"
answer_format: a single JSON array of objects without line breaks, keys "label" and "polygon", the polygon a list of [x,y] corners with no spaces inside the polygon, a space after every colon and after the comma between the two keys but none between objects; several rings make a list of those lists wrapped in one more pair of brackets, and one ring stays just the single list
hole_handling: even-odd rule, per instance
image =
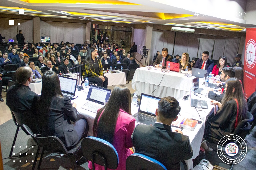
[{"label": "leftmost open laptop, in front of the woman in dark grey blazer", "polygon": [[60,80],[60,90],[65,97],[74,97],[76,93],[77,79],[58,76]]}]

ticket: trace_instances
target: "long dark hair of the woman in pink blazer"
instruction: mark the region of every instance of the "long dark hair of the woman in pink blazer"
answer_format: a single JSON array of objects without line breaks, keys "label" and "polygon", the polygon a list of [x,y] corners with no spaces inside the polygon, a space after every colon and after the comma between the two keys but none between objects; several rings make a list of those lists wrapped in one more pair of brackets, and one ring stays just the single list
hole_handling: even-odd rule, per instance
[{"label": "long dark hair of the woman in pink blazer", "polygon": [[93,136],[113,144],[119,109],[131,115],[131,92],[124,85],[115,86],[108,103],[97,112],[93,123]]}]

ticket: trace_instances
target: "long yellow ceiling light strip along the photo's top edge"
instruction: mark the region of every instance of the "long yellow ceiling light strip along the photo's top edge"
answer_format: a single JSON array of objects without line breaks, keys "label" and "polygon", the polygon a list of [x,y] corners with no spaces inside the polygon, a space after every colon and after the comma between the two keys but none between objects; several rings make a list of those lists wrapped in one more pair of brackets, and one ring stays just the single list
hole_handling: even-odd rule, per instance
[{"label": "long yellow ceiling light strip along the photo's top edge", "polygon": [[110,5],[140,5],[129,2],[117,1],[117,0],[51,0],[51,1],[38,1],[38,0],[19,0],[26,3],[33,4],[110,4]]}]

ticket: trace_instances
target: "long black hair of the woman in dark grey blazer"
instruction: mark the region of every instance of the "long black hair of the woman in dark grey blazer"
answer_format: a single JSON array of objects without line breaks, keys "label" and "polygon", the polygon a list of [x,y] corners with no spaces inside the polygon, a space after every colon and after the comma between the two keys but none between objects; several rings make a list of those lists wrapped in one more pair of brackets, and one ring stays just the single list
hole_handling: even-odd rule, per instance
[{"label": "long black hair of the woman in dark grey blazer", "polygon": [[63,97],[59,78],[54,71],[46,71],[42,76],[41,96],[37,101],[37,119],[40,134],[46,133],[51,100],[55,96]]}]

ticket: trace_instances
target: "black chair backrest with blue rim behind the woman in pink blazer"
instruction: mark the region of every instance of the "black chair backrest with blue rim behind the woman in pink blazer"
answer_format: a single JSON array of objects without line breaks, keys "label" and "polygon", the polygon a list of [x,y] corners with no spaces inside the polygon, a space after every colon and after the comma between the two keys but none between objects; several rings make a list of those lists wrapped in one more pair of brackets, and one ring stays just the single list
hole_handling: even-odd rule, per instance
[{"label": "black chair backrest with blue rim behind the woman in pink blazer", "polygon": [[[116,169],[118,167],[118,153],[111,143],[96,137],[86,137],[81,143],[83,156],[101,166]],[[105,162],[104,162],[105,160]]]}]

